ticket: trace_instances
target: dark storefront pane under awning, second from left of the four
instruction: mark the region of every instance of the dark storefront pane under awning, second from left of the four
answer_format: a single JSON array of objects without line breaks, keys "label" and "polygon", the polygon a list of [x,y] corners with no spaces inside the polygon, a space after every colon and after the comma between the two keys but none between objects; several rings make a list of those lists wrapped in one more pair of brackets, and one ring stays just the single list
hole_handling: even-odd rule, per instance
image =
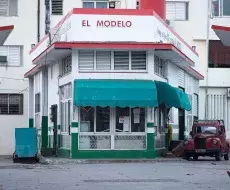
[{"label": "dark storefront pane under awning, second from left of the four", "polygon": [[96,132],[110,131],[110,108],[96,108]]}]

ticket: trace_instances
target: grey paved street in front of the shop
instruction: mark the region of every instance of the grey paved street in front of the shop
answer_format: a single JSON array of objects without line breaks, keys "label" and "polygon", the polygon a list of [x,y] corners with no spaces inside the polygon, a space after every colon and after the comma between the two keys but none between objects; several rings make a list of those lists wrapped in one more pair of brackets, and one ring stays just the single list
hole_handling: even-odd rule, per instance
[{"label": "grey paved street in front of the shop", "polygon": [[0,162],[1,190],[229,190],[230,162],[21,165]]}]

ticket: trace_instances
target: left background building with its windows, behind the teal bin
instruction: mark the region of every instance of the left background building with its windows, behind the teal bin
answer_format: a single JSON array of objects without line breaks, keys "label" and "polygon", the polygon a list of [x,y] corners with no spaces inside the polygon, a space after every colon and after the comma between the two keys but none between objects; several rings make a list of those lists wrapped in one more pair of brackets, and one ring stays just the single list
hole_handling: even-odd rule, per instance
[{"label": "left background building with its windows, behind the teal bin", "polygon": [[28,80],[24,73],[32,67],[28,52],[37,42],[36,20],[36,3],[0,1],[0,26],[14,26],[0,45],[0,155],[12,155],[14,129],[28,127]]}]

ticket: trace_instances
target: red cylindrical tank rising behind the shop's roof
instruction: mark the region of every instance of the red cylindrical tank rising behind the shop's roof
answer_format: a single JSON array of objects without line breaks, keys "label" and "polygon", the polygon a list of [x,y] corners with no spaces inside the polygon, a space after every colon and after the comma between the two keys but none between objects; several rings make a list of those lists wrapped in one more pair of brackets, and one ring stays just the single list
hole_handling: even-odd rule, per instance
[{"label": "red cylindrical tank rising behind the shop's roof", "polygon": [[165,0],[140,0],[140,9],[152,9],[163,20],[166,20],[166,1]]}]

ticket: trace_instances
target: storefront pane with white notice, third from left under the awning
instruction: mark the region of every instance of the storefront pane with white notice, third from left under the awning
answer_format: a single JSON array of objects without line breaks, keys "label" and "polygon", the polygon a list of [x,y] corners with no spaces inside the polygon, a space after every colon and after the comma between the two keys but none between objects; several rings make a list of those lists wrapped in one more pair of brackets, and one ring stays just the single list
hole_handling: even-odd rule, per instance
[{"label": "storefront pane with white notice, third from left under the awning", "polygon": [[129,108],[116,108],[116,132],[130,131]]}]

